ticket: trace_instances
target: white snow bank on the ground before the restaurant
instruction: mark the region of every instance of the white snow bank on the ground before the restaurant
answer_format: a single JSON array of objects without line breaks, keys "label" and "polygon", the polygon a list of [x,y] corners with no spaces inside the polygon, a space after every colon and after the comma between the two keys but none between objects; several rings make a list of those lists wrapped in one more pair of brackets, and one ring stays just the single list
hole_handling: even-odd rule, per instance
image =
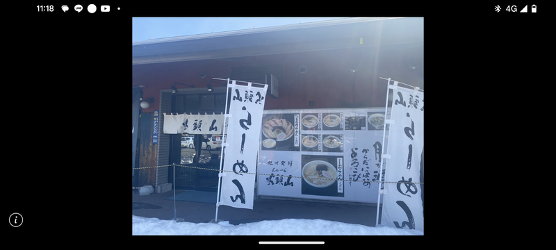
[{"label": "white snow bank on the ground before the restaurant", "polygon": [[323,219],[281,219],[234,226],[225,221],[190,223],[132,216],[133,235],[423,235],[416,230]]}]

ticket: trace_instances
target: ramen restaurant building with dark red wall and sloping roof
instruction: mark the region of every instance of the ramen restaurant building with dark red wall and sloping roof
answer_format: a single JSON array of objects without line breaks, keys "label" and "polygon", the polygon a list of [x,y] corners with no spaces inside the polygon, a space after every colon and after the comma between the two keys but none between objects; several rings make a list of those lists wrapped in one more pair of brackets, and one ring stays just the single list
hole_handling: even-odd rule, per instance
[{"label": "ramen restaurant building with dark red wall and sloping roof", "polygon": [[133,42],[133,163],[165,166],[134,169],[133,186],[217,192],[222,133],[163,126],[225,114],[230,79],[269,85],[256,197],[377,203],[383,78],[423,89],[423,36],[420,17],[357,17]]}]

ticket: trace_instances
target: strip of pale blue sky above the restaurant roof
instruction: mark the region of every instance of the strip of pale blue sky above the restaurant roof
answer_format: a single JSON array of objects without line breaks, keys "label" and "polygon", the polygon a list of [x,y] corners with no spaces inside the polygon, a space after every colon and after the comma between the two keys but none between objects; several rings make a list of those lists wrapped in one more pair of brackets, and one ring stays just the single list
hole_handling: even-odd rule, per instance
[{"label": "strip of pale blue sky above the restaurant roof", "polygon": [[133,17],[132,42],[342,18],[346,17]]}]

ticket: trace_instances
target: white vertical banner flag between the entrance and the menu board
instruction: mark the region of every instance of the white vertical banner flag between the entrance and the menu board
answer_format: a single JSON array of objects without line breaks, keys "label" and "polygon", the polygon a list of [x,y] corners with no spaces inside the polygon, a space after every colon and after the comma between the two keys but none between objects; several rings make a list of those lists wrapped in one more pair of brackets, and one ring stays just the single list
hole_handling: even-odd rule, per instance
[{"label": "white vertical banner flag between the entrance and the menu board", "polygon": [[222,172],[220,205],[253,209],[257,151],[261,133],[264,88],[231,85],[226,157]]}]

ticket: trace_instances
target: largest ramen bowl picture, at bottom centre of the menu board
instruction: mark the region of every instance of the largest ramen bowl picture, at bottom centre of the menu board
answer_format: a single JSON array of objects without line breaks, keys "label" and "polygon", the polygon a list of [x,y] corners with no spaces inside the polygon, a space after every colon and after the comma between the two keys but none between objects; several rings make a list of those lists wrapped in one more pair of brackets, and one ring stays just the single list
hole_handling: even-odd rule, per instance
[{"label": "largest ramen bowl picture, at bottom centre of the menu board", "polygon": [[326,188],[336,181],[336,168],[324,160],[313,160],[303,166],[304,181],[315,188]]}]

